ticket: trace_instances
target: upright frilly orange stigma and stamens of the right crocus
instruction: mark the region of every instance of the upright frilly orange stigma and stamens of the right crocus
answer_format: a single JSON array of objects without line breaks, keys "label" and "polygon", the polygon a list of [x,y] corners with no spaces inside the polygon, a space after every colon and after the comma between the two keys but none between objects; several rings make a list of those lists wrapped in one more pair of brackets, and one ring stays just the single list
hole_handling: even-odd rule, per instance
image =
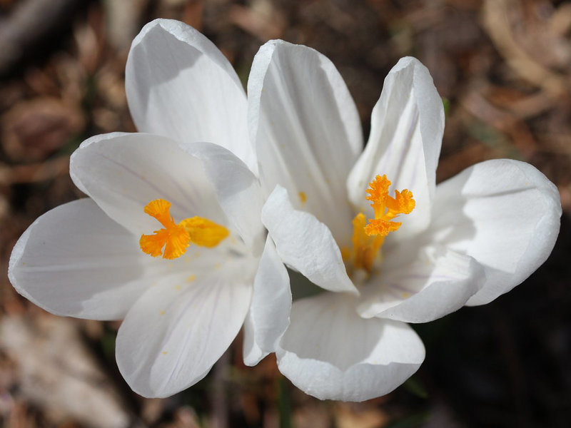
[{"label": "upright frilly orange stigma and stamens of the right crocus", "polygon": [[415,208],[413,193],[408,189],[395,190],[395,197],[388,194],[390,181],[386,175],[377,175],[369,183],[367,197],[370,206],[375,211],[375,218],[370,218],[368,224],[363,213],[358,213],[353,218],[353,248],[345,250],[343,255],[346,261],[350,261],[355,270],[365,270],[370,273],[380,248],[385,241],[385,236],[400,228],[399,223],[393,219],[399,214],[409,214]]}]

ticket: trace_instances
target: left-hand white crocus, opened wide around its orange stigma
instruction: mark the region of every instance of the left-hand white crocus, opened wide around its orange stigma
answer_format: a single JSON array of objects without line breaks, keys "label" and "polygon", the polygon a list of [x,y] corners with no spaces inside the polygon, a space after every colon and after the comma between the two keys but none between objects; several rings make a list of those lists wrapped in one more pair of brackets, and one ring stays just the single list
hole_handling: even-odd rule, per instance
[{"label": "left-hand white crocus, opened wide around its orange stigma", "polygon": [[121,373],[165,397],[208,373],[243,324],[256,273],[283,265],[263,244],[246,93],[221,52],[153,21],[133,41],[126,88],[141,133],[81,144],[70,173],[89,198],[38,218],[9,278],[54,314],[124,319]]}]

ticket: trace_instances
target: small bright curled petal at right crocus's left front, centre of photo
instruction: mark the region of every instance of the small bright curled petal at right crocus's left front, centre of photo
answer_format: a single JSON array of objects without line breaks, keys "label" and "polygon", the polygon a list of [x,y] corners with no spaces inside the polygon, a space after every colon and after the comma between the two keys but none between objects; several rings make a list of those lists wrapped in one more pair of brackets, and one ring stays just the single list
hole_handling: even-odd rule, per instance
[{"label": "small bright curled petal at right crocus's left front, centre of photo", "polygon": [[328,227],[310,213],[295,210],[285,188],[277,185],[268,197],[262,223],[283,263],[325,290],[357,292]]}]

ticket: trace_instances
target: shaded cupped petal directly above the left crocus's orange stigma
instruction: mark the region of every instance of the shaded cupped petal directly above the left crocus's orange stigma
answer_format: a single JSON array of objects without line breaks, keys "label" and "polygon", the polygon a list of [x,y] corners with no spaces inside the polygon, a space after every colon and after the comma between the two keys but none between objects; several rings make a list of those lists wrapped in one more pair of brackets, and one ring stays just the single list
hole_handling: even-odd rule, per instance
[{"label": "shaded cupped petal directly above the left crocus's orange stigma", "polygon": [[171,215],[177,222],[200,215],[228,224],[201,161],[166,137],[94,136],[71,156],[70,174],[109,217],[139,237],[160,226],[143,211],[157,198],[172,203]]}]

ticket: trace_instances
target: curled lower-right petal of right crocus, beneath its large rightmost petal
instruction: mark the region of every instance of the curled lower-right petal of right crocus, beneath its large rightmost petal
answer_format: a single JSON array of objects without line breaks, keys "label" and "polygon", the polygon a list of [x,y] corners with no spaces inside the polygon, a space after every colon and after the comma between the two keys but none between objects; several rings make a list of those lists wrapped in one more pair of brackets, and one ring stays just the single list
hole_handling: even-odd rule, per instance
[{"label": "curled lower-right petal of right crocus, beneath its large rightmost petal", "polygon": [[485,282],[480,263],[445,248],[425,248],[415,262],[385,269],[361,290],[358,312],[363,317],[433,321],[463,307]]}]

